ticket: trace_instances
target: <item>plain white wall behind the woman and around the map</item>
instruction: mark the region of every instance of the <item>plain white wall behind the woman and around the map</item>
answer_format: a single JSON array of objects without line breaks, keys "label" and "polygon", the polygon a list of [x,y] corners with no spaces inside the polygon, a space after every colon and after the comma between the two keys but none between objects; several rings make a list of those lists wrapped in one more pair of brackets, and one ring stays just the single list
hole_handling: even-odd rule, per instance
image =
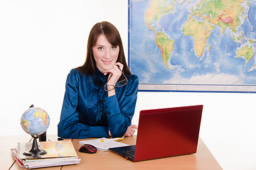
[{"label": "plain white wall behind the woman and around the map", "polygon": [[[127,13],[124,0],[1,0],[0,135],[27,135],[20,118],[32,103],[48,112],[48,134],[56,134],[65,79],[85,61],[90,29],[110,21],[127,49]],[[255,96],[139,92],[133,123],[142,109],[203,104],[200,136],[220,166],[256,169]]]}]

